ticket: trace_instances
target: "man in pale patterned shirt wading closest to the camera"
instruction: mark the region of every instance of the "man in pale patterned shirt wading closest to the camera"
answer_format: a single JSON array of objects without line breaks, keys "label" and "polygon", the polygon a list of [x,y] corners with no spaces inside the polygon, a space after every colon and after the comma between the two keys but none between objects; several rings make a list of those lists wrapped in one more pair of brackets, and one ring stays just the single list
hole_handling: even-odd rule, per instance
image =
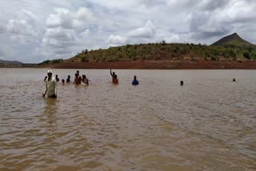
[{"label": "man in pale patterned shirt wading closest to the camera", "polygon": [[54,77],[52,77],[53,73],[51,70],[48,70],[47,72],[47,78],[46,78],[46,90],[42,94],[43,97],[51,97],[51,98],[56,98],[57,97],[57,82]]}]

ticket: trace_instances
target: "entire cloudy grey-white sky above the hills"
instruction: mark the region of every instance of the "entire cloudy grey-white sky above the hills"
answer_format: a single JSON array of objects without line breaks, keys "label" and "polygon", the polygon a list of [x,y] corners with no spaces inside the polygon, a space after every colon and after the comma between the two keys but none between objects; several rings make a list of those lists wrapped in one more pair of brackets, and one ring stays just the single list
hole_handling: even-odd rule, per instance
[{"label": "entire cloudy grey-white sky above the hills", "polygon": [[42,62],[146,42],[256,43],[254,0],[1,0],[0,58]]}]

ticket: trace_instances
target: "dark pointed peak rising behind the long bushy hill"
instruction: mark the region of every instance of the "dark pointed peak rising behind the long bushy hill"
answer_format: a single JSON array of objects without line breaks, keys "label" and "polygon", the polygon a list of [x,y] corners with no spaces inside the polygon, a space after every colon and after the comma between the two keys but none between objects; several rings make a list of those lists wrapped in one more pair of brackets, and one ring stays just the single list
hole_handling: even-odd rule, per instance
[{"label": "dark pointed peak rising behind the long bushy hill", "polygon": [[253,45],[250,42],[245,41],[242,39],[237,33],[230,34],[222,39],[220,39],[218,42],[214,42],[214,46],[221,46],[221,45],[243,45],[243,46],[249,46]]}]

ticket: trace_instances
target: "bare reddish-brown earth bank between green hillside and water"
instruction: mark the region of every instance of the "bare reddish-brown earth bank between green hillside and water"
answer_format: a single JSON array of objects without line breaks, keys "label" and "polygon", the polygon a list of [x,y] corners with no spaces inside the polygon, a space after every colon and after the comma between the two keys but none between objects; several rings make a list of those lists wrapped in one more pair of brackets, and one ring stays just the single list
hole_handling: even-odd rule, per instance
[{"label": "bare reddish-brown earth bank between green hillside and water", "polygon": [[38,66],[52,69],[126,69],[126,70],[256,70],[254,61],[119,61],[62,62]]}]

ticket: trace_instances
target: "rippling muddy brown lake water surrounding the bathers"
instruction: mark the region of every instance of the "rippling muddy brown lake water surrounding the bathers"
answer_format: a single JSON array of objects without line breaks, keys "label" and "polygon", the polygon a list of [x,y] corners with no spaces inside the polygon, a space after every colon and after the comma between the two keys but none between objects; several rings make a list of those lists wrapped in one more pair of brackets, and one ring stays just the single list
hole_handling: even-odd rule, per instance
[{"label": "rippling muddy brown lake water surrounding the bathers", "polygon": [[116,72],[50,99],[46,70],[0,69],[0,170],[256,169],[256,71]]}]

